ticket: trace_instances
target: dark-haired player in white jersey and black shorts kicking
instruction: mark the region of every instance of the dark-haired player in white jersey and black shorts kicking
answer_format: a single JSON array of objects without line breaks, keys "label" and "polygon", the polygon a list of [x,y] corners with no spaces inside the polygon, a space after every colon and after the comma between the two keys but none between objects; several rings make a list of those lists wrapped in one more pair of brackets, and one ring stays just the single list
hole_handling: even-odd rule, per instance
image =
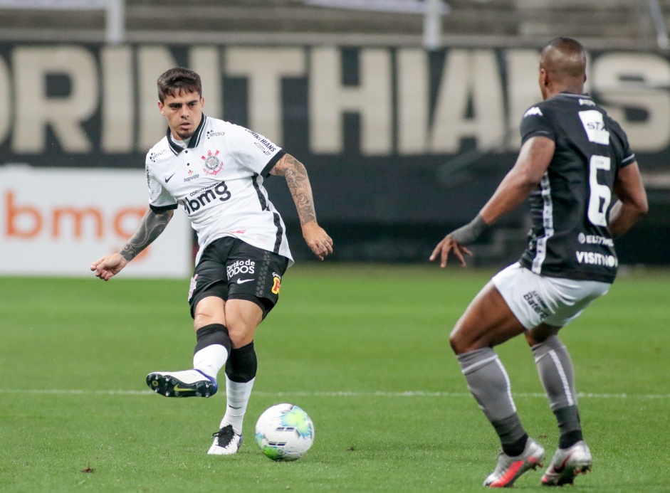
[{"label": "dark-haired player in white jersey and black shorts kicking", "polygon": [[189,289],[197,336],[193,369],[152,372],[147,385],[167,397],[209,397],[225,365],[226,413],[208,453],[231,455],[241,445],[256,377],[253,334],[276,304],[283,273],[293,263],[286,227],[263,179],[286,179],[303,238],[320,260],[333,253],[333,240],[316,221],[300,161],[249,129],[206,117],[194,71],[172,68],[157,85],[168,129],[147,154],[149,210],[122,250],[90,269],[110,280],[162,233],[174,209],[189,216],[199,243]]}]

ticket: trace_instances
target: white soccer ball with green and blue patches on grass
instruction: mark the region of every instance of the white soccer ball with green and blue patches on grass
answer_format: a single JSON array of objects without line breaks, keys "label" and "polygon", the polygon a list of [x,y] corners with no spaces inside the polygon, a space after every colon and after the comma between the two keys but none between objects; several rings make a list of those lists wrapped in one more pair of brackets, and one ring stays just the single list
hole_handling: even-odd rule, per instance
[{"label": "white soccer ball with green and blue patches on grass", "polygon": [[273,405],[256,422],[256,443],[271,460],[300,459],[313,441],[312,420],[297,405]]}]

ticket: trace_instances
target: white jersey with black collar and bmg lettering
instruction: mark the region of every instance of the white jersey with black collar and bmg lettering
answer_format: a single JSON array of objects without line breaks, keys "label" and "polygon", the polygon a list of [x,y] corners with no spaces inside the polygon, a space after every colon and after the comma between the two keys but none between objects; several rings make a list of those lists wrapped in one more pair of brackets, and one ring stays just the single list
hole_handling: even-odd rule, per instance
[{"label": "white jersey with black collar and bmg lettering", "polygon": [[212,241],[233,236],[290,260],[286,227],[263,187],[285,153],[251,130],[202,115],[186,148],[169,129],[147,154],[150,207],[184,209],[198,234],[196,263]]}]

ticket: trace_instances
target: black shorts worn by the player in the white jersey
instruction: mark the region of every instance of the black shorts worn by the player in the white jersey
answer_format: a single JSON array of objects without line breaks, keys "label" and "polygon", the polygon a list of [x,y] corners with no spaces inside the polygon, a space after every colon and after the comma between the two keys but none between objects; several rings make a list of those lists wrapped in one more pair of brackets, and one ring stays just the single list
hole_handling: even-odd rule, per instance
[{"label": "black shorts worn by the player in the white jersey", "polygon": [[288,258],[256,248],[237,238],[214,240],[201,255],[189,287],[191,317],[208,296],[224,300],[248,299],[263,310],[263,318],[279,299],[281,277]]}]

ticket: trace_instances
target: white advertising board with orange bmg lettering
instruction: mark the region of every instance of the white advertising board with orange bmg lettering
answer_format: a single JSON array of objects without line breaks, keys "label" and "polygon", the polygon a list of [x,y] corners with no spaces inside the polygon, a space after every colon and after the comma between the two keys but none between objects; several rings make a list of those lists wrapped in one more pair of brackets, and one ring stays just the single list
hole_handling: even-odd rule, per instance
[{"label": "white advertising board with orange bmg lettering", "polygon": [[[120,250],[148,203],[140,170],[0,166],[0,275],[92,275],[89,265]],[[192,233],[177,211],[124,277],[189,277]]]}]

